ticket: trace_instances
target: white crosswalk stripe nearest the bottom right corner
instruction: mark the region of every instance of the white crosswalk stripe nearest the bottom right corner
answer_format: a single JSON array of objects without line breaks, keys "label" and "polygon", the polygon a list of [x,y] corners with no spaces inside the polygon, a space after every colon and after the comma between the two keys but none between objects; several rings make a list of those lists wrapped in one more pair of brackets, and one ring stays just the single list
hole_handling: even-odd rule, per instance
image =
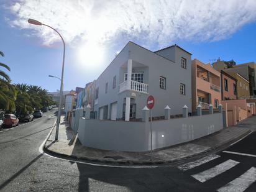
[{"label": "white crosswalk stripe nearest the bottom right corner", "polygon": [[244,174],[240,175],[235,180],[227,183],[222,188],[219,188],[219,192],[242,192],[246,190],[252,183],[256,181],[256,168],[252,167],[247,170]]}]

